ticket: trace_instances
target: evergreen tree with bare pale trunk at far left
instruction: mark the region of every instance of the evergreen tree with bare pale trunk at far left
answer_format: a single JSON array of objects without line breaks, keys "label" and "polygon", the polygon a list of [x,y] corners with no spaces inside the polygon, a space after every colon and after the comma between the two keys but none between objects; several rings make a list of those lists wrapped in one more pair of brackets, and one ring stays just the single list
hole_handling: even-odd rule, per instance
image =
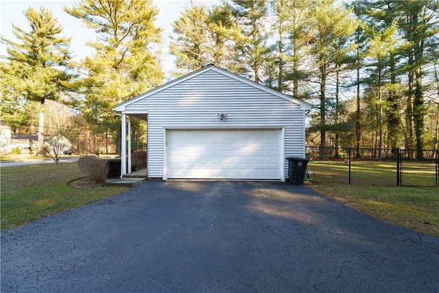
[{"label": "evergreen tree with bare pale trunk at far left", "polygon": [[[12,25],[18,41],[1,38],[8,46],[8,56],[1,64],[1,88],[3,97],[13,108],[19,107],[22,99],[40,103],[38,148],[41,148],[45,100],[58,100],[62,91],[71,89],[70,38],[60,36],[62,26],[50,10],[41,7],[38,11],[29,7],[24,14],[30,31]],[[43,150],[38,153],[42,154]]]}]

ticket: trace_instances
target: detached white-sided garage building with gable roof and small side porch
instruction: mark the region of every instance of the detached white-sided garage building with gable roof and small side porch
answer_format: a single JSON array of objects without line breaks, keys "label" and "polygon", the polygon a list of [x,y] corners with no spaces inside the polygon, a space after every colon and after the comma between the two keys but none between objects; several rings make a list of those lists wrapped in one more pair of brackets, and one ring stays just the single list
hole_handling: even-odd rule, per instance
[{"label": "detached white-sided garage building with gable roof and small side porch", "polygon": [[310,109],[307,102],[208,65],[114,108],[126,138],[122,176],[131,173],[134,116],[147,121],[149,178],[285,181],[285,157],[305,157]]}]

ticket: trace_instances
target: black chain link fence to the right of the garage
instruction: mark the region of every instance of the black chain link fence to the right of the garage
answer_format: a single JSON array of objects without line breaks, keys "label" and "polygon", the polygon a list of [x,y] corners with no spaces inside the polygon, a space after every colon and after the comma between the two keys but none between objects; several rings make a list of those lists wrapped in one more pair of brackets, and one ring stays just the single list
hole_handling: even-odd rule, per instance
[{"label": "black chain link fence to the right of the garage", "polygon": [[306,152],[314,183],[439,187],[439,150],[307,147]]}]

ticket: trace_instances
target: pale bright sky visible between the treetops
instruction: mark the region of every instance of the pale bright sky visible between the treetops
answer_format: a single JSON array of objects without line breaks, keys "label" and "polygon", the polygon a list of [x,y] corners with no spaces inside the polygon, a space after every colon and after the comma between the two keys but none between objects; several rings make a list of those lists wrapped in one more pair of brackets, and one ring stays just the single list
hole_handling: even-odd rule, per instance
[{"label": "pale bright sky visible between the treetops", "polygon": [[[165,75],[170,75],[174,71],[174,57],[169,54],[169,35],[172,33],[171,23],[180,16],[180,12],[189,5],[189,0],[153,0],[155,5],[160,10],[156,26],[163,29],[163,51],[162,69]],[[15,40],[12,34],[12,23],[29,31],[29,24],[23,14],[29,6],[39,10],[41,6],[50,9],[54,13],[54,17],[58,19],[58,23],[64,27],[62,35],[70,36],[71,46],[75,60],[79,61],[88,54],[91,54],[93,49],[87,47],[85,43],[88,40],[95,40],[96,34],[93,30],[85,27],[80,19],[70,16],[62,8],[65,6],[71,8],[74,2],[78,1],[64,1],[64,0],[47,0],[47,1],[22,1],[22,0],[0,0],[0,32],[1,36],[10,40]],[[217,5],[219,0],[193,0],[196,4]],[[0,55],[6,54],[6,48],[1,44]]]}]

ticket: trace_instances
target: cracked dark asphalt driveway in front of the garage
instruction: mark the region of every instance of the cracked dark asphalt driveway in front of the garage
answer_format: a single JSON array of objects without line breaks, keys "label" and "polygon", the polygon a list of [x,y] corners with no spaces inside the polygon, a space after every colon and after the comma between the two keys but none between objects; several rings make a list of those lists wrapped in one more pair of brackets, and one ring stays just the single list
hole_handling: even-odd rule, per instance
[{"label": "cracked dark asphalt driveway in front of the garage", "polygon": [[278,182],[149,182],[1,235],[1,292],[439,292],[439,238]]}]

